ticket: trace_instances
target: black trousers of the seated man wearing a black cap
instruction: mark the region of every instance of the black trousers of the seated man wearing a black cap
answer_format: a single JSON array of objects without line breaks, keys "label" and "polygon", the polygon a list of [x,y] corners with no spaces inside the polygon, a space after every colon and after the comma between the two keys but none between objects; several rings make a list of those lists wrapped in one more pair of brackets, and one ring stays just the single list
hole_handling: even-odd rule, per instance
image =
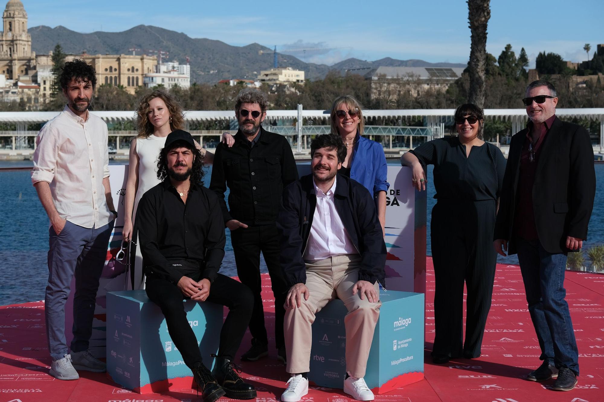
[{"label": "black trousers of the seated man wearing a black cap", "polygon": [[[193,278],[198,280],[198,278]],[[164,313],[168,332],[174,345],[182,354],[182,360],[191,370],[197,363],[202,362],[199,352],[199,343],[188,324],[187,313],[185,313],[182,295],[178,286],[168,279],[147,276],[147,296],[151,301],[161,308]],[[219,357],[233,360],[245,330],[248,327],[249,317],[252,313],[254,298],[249,289],[233,278],[218,274],[210,286],[210,295],[205,302],[212,302],[228,307],[222,330],[220,330]],[[204,303],[205,303],[204,302]],[[210,328],[217,331],[219,328]]]}]

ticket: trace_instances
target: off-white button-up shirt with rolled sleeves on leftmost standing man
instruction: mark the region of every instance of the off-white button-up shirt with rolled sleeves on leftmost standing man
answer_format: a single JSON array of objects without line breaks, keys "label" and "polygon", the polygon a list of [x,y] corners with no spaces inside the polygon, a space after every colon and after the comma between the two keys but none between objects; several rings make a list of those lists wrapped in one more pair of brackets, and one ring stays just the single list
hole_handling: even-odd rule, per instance
[{"label": "off-white button-up shirt with rolled sleeves on leftmost standing man", "polygon": [[114,219],[103,187],[109,177],[107,124],[86,112],[88,120],[65,109],[42,127],[36,138],[31,182],[50,183],[60,217],[84,228],[100,228]]}]

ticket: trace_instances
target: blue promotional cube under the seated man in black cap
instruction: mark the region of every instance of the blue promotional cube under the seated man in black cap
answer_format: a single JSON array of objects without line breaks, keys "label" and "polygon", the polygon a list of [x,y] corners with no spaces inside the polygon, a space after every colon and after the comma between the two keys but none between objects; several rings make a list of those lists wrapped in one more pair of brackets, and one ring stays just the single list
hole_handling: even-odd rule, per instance
[{"label": "blue promotional cube under the seated man in black cap", "polygon": [[[204,364],[218,351],[223,307],[183,301]],[[164,314],[144,290],[107,293],[107,372],[116,383],[141,394],[191,388],[193,375],[168,333]]]}]

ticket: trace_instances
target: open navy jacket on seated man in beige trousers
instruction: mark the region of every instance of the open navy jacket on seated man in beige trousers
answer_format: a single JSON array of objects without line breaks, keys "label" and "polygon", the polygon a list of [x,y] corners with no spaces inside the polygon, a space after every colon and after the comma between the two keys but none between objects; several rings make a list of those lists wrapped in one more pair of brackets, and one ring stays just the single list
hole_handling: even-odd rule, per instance
[{"label": "open navy jacket on seated man in beige trousers", "polygon": [[[385,286],[386,244],[373,197],[361,183],[338,174],[333,198],[339,217],[361,255],[359,280],[372,284],[379,281]],[[306,283],[303,255],[315,208],[312,174],[283,190],[277,229],[281,235],[281,267],[289,286]]]}]

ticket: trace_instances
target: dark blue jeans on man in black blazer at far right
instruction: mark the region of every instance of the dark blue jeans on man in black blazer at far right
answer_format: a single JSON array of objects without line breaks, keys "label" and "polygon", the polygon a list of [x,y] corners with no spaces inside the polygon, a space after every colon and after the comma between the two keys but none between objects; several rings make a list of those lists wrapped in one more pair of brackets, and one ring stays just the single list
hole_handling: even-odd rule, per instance
[{"label": "dark blue jeans on man in black blazer at far right", "polygon": [[518,261],[526,290],[528,313],[535,325],[541,357],[556,368],[579,375],[579,350],[565,301],[567,254],[547,252],[539,240],[516,239]]}]

